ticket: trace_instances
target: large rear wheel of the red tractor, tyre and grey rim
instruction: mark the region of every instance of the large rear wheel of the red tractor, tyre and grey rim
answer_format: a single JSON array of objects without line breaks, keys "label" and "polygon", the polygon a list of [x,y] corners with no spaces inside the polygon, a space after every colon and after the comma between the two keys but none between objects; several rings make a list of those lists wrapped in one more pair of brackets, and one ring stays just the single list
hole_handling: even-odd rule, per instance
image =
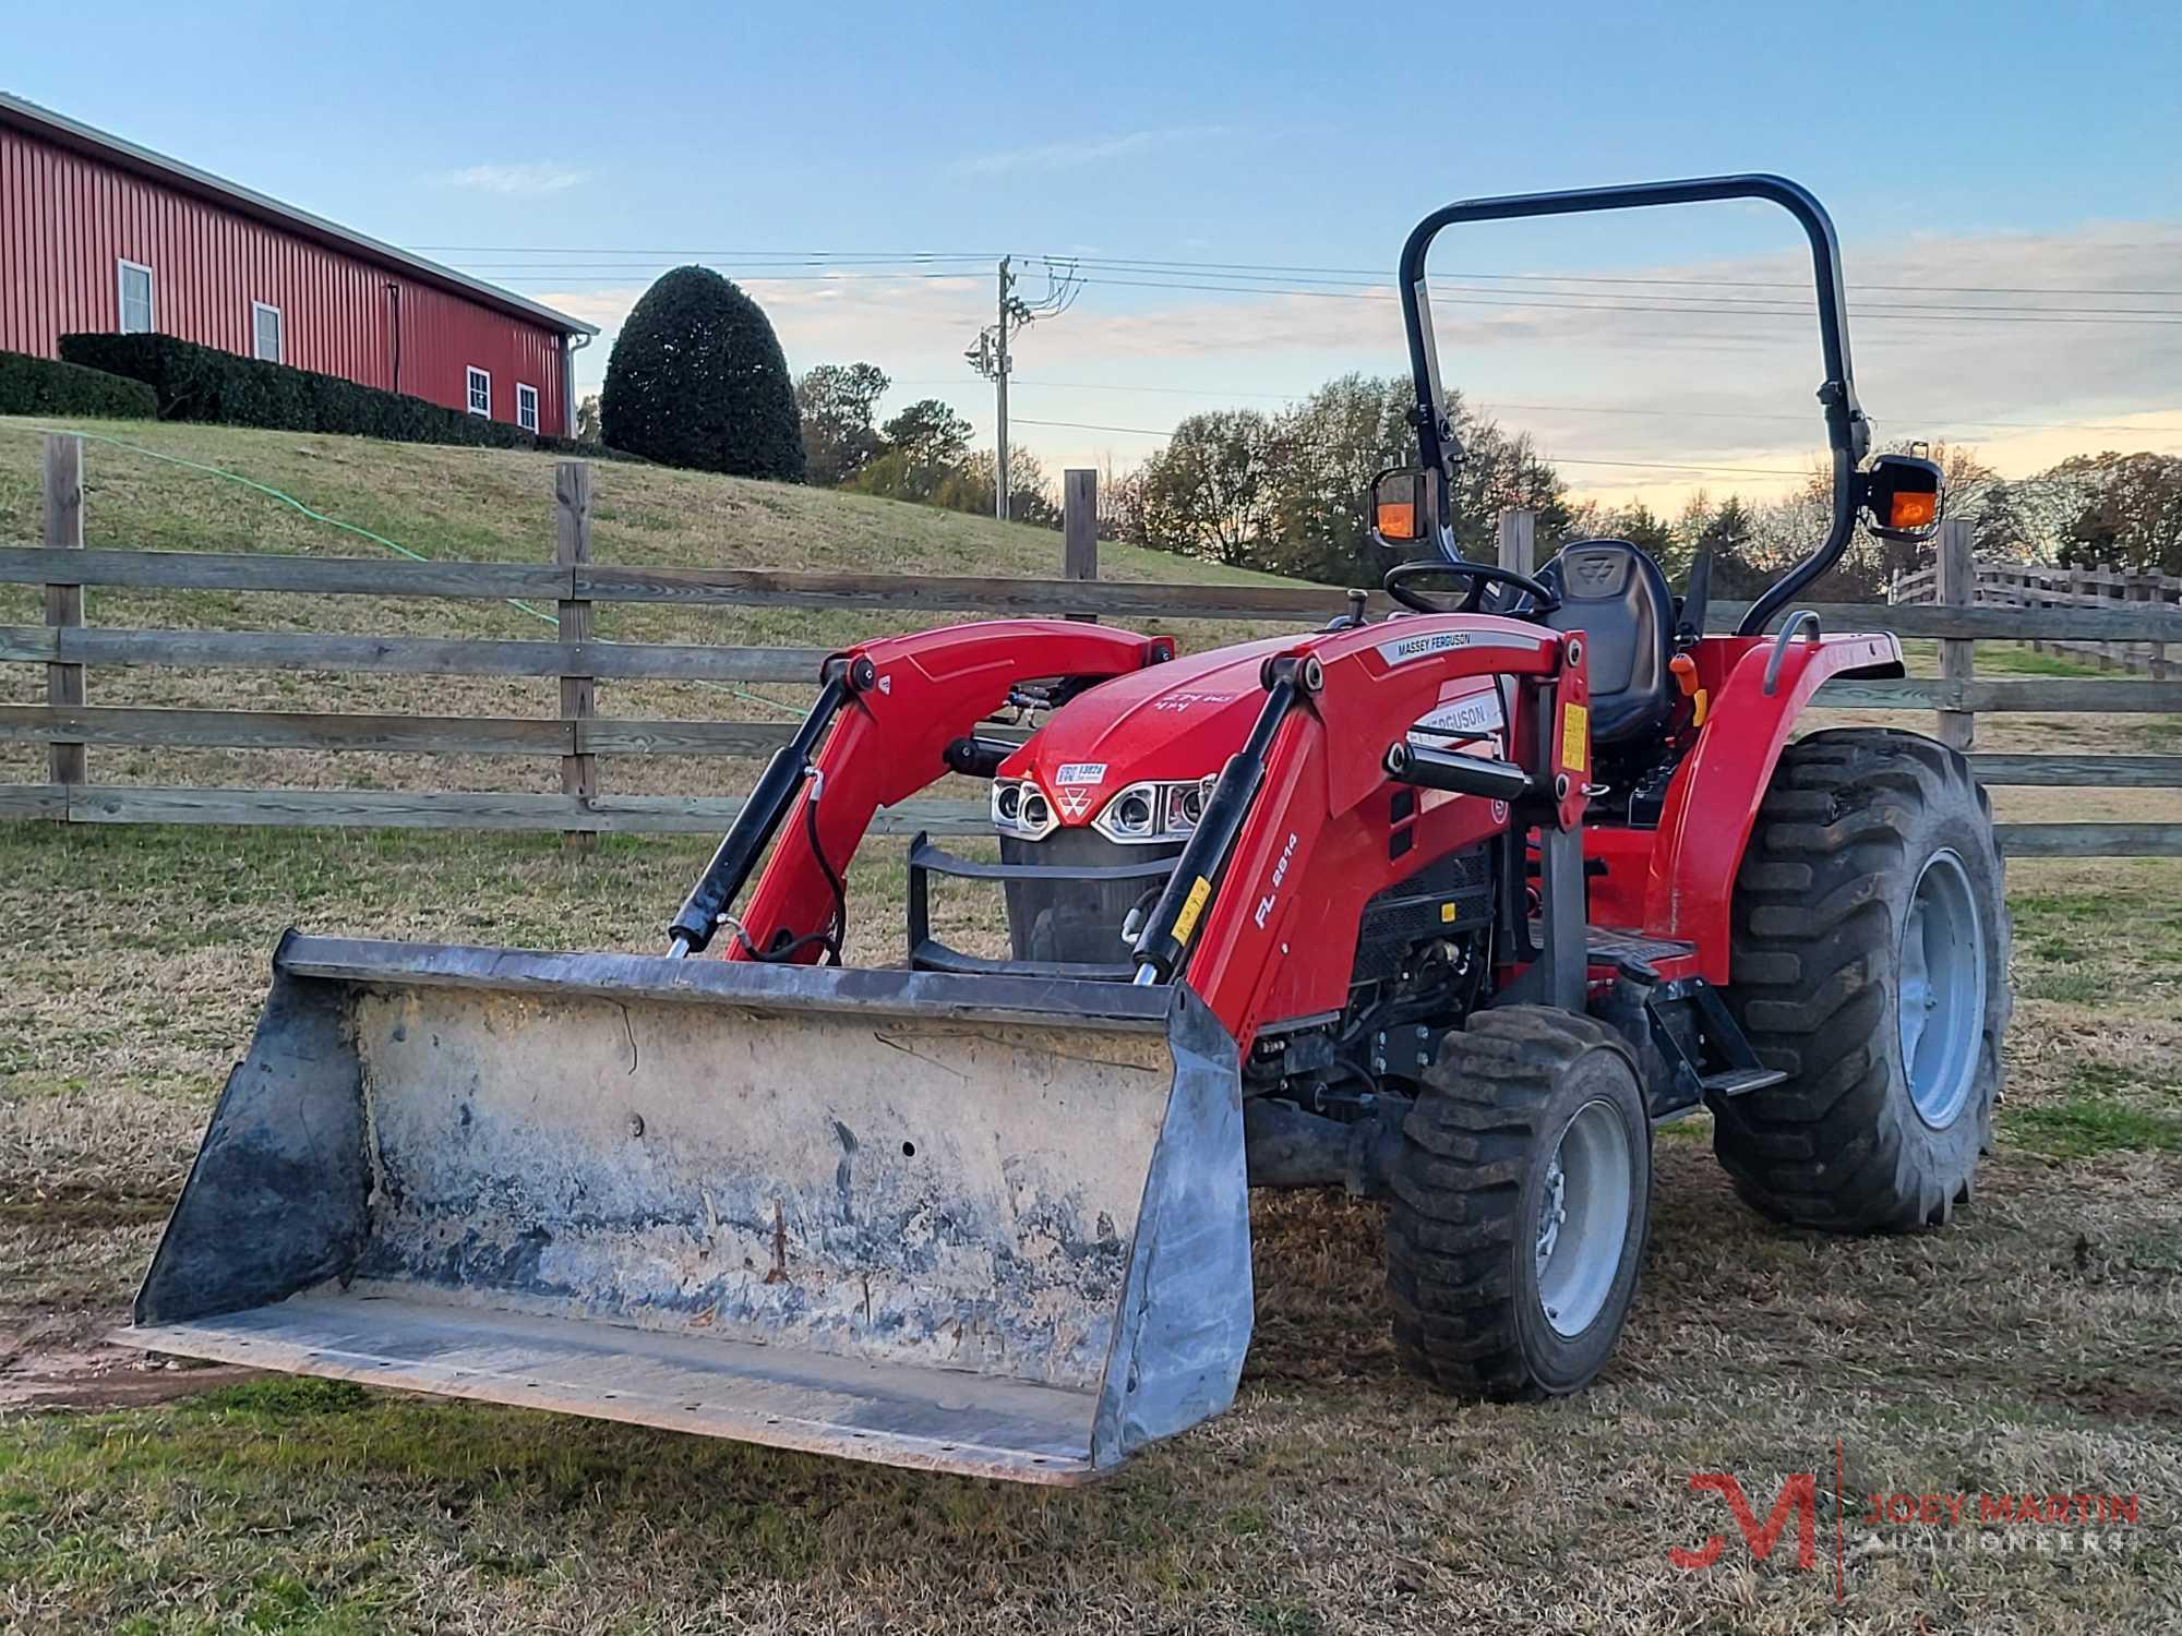
[{"label": "large rear wheel of the red tractor, tyre and grey rim", "polygon": [[1887,729],[1791,744],[1735,881],[1726,1003],[1789,1075],[1713,1106],[1743,1200],[1831,1232],[1944,1226],[1992,1145],[2007,942],[1962,755]]}]

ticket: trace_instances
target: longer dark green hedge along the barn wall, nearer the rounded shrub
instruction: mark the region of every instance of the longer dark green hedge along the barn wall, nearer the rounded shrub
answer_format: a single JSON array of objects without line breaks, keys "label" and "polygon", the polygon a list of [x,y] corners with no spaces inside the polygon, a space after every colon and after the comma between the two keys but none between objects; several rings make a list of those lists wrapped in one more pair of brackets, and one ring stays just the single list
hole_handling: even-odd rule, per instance
[{"label": "longer dark green hedge along the barn wall, nearer the rounded shrub", "polygon": [[495,449],[552,449],[613,458],[576,438],[537,436],[482,414],[425,404],[408,393],[382,393],[340,375],[268,364],[260,358],[199,347],[175,336],[61,336],[72,364],[144,382],[159,419],[218,425],[268,425],[281,432],[347,432],[391,443],[476,443]]}]

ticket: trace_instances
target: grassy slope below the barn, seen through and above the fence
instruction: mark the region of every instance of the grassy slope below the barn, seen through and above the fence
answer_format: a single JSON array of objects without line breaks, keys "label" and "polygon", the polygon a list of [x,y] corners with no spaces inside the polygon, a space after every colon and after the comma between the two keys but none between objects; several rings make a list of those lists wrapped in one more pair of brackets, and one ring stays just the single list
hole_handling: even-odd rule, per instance
[{"label": "grassy slope below the barn, seen through and above the fence", "polygon": [[[37,541],[39,423],[0,419],[0,541]],[[85,423],[85,543],[116,550],[297,552],[395,556],[395,545],[432,558],[552,561],[552,469],[556,456],[456,449],[308,432],[212,425]],[[229,476],[218,476],[229,473]],[[268,493],[277,491],[277,493]],[[336,528],[288,500],[338,519]],[[746,482],[635,462],[600,462],[594,486],[591,556],[631,567],[801,567],[875,574],[1056,576],[1060,537],[988,517],[873,500],[825,489]],[[367,539],[360,532],[380,537]],[[391,541],[382,543],[382,541]],[[1115,580],[1224,580],[1279,585],[1263,574],[1102,545],[1100,574]],[[548,615],[541,622],[539,615]],[[550,609],[506,602],[408,598],[308,598],[212,591],[89,593],[94,624],[227,630],[325,630],[537,639]],[[945,615],[814,613],[805,609],[598,609],[609,641],[810,643],[838,646]],[[35,587],[0,587],[0,624],[44,619]],[[1172,630],[1185,648],[1237,641],[1250,628],[1213,622],[1139,622]],[[602,715],[757,718],[799,715],[807,689],[703,687],[687,683],[600,683]],[[44,698],[35,665],[0,665],[0,702]],[[554,715],[556,683],[487,676],[336,676],[325,672],[100,670],[103,705],[196,705],[233,709],[432,711]],[[44,753],[0,746],[0,779],[41,777]],[[731,785],[711,761],[611,763],[620,792],[711,792]],[[251,783],[297,787],[554,790],[539,761],[452,761],[445,757],[329,757],[220,750],[107,750],[94,779],[113,783]]]}]

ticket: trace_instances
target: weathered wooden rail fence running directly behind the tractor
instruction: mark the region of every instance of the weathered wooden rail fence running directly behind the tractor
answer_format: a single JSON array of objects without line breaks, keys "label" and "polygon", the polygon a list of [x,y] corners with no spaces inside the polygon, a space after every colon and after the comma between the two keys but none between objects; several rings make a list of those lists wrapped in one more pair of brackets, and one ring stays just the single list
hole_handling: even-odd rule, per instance
[{"label": "weathered wooden rail fence running directly behind the tractor", "polygon": [[[216,552],[83,550],[81,441],[48,438],[46,543],[0,548],[0,582],[46,587],[44,626],[0,626],[0,661],[44,663],[44,705],[0,705],[0,739],[50,746],[46,783],[0,783],[0,818],[68,822],[353,825],[541,831],[698,831],[722,829],[731,798],[618,796],[598,787],[598,757],[705,755],[753,757],[786,742],[786,722],[633,720],[594,713],[594,683],[609,678],[816,683],[818,648],[742,648],[613,643],[591,635],[600,602],[676,606],[868,609],[886,613],[1060,615],[1117,619],[1276,619],[1322,624],[1346,593],[1316,587],[1156,585],[1098,580],[1089,517],[1091,486],[1071,473],[1080,500],[1067,530],[1067,576],[995,580],[978,576],[820,574],[775,569],[644,569],[591,563],[591,473],[563,462],[554,484],[552,563],[417,563]],[[1087,478],[1089,473],[1084,473]],[[1532,519],[1501,521],[1501,558],[1527,567]],[[1826,709],[1938,711],[1940,731],[1973,748],[1975,720],[1988,711],[2182,713],[2182,683],[2103,678],[1977,681],[1979,639],[2182,643],[2182,609],[1994,606],[1970,596],[1968,530],[1949,524],[1938,602],[1894,606],[1818,604],[1829,630],[1894,630],[1938,637],[1938,681],[1837,681],[1820,694]],[[351,637],[247,630],[135,630],[87,622],[85,587],[305,591],[314,596],[528,598],[559,609],[556,641],[441,637]],[[1383,609],[1383,598],[1372,598]],[[1733,628],[1746,604],[1717,604],[1715,630]],[[140,709],[92,705],[87,672],[100,665],[179,670],[332,670],[434,676],[554,676],[554,718],[364,715],[336,711]],[[185,785],[100,785],[89,750],[303,748],[410,755],[556,757],[561,794],[386,792],[386,790],[231,790]],[[2182,787],[2182,755],[1973,755],[1994,785]],[[882,814],[879,833],[930,829],[982,833],[978,805],[903,803]],[[2003,825],[2016,855],[2182,855],[2182,822]]]}]

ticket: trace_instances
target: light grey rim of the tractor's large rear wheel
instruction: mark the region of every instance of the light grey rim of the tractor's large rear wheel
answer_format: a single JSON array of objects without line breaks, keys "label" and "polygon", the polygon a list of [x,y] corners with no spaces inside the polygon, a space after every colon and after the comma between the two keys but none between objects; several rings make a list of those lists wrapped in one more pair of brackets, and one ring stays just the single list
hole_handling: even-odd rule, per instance
[{"label": "light grey rim of the tractor's large rear wheel", "polygon": [[1918,1119],[1944,1130],[1970,1102],[1986,1034],[1986,936],[1953,849],[1927,857],[1916,877],[1898,966],[1903,1078]]}]

